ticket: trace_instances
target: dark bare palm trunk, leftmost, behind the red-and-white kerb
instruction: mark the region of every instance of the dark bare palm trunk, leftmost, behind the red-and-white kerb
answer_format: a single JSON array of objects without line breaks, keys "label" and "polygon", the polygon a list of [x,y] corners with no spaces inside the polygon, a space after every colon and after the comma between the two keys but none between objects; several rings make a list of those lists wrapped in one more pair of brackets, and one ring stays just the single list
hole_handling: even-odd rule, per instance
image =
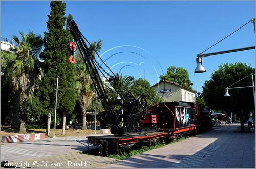
[{"label": "dark bare palm trunk, leftmost, behind the red-and-white kerb", "polygon": [[19,104],[20,104],[20,91],[15,92],[15,102],[14,102],[14,114],[12,117],[12,128],[19,128]]}]

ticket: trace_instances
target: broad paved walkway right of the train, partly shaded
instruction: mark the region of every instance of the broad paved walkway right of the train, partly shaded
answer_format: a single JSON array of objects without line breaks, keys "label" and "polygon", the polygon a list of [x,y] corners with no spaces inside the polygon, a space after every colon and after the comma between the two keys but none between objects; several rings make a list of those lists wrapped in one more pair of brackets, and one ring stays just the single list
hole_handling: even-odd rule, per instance
[{"label": "broad paved walkway right of the train, partly shaded", "polygon": [[255,133],[221,126],[104,168],[255,168]]}]

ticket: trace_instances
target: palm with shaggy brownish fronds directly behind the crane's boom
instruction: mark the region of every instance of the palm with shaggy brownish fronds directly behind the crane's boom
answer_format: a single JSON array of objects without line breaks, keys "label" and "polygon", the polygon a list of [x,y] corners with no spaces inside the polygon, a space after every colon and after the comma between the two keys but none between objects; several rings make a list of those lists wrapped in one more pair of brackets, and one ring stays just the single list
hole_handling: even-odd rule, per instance
[{"label": "palm with shaggy brownish fronds directly behind the crane's boom", "polygon": [[[97,43],[91,43],[89,49],[93,53],[93,57],[95,57],[95,51],[99,52],[101,49],[102,42],[99,40]],[[93,50],[94,49],[94,50]],[[77,86],[79,89],[77,90],[79,104],[82,108],[82,130],[86,130],[86,115],[87,108],[92,101],[93,90],[92,90],[92,79],[90,78],[90,73],[86,69],[86,64],[84,63],[81,53],[78,51],[76,53],[76,61],[77,61]]]}]

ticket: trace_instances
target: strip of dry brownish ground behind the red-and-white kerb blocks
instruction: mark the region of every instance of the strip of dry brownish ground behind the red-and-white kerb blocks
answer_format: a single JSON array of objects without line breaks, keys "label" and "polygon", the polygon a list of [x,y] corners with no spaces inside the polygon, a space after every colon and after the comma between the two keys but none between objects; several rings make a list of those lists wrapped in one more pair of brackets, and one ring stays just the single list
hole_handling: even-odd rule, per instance
[{"label": "strip of dry brownish ground behind the red-and-white kerb blocks", "polygon": [[[15,135],[18,133],[19,129],[12,129],[10,126],[1,127],[0,135]],[[50,137],[53,137],[54,129],[50,130]],[[88,135],[94,134],[95,130],[81,130],[81,129],[65,129],[65,135],[61,135],[62,129],[56,129],[56,137],[66,137],[66,136],[81,136],[81,135]],[[27,129],[28,134],[32,133],[46,133],[46,129]],[[99,133],[99,130],[97,130]]]}]

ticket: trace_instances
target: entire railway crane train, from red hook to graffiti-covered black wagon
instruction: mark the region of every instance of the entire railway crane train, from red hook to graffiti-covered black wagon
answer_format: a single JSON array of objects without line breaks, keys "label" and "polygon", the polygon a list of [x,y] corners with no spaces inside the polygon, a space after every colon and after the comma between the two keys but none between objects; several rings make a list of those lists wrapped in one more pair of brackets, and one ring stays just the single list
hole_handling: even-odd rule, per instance
[{"label": "entire railway crane train, from red hook to graffiti-covered black wagon", "polygon": [[[197,103],[169,102],[148,106],[144,95],[140,95],[138,98],[133,96],[119,77],[101,59],[86,37],[82,35],[76,22],[74,20],[67,22],[68,33],[71,33],[74,38],[74,42],[69,43],[71,50],[69,60],[71,63],[75,62],[73,60],[74,52],[78,48],[98,98],[101,99],[101,103],[111,119],[113,135],[87,137],[89,144],[99,147],[100,155],[129,153],[132,146],[152,146],[159,139],[172,140],[177,136],[212,128],[209,111]],[[108,68],[108,71],[104,70],[95,59],[91,49],[98,56],[102,65]],[[100,74],[109,81],[115,93],[123,100],[118,111],[110,103]],[[112,81],[116,81],[121,87],[113,85]],[[122,95],[123,92],[125,92],[125,97]]]}]

